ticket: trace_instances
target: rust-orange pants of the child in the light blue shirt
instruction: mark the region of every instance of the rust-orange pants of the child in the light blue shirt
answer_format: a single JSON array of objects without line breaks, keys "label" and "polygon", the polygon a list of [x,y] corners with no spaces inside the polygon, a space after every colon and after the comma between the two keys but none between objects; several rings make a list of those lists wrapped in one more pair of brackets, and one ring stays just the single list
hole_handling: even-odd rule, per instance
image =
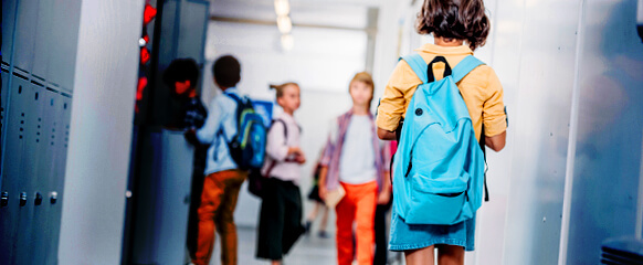
[{"label": "rust-orange pants of the child in the light blue shirt", "polygon": [[247,172],[225,170],[208,174],[199,206],[199,239],[192,263],[210,264],[214,247],[214,230],[221,236],[221,264],[236,264],[236,226],[234,208]]}]

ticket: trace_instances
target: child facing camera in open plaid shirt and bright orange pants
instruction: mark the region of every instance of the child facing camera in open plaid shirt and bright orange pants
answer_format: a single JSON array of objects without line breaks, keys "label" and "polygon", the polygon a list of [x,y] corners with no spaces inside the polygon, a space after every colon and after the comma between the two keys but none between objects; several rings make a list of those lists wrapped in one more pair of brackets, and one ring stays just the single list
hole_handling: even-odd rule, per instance
[{"label": "child facing camera in open plaid shirt and bright orange pants", "polygon": [[[355,256],[360,265],[372,265],[375,212],[377,204],[390,200],[388,162],[377,137],[370,114],[373,82],[370,74],[355,75],[349,84],[352,108],[331,124],[322,159],[319,197],[340,187],[345,197],[336,205],[337,264],[350,265]],[[354,223],[357,246],[354,247]]]}]

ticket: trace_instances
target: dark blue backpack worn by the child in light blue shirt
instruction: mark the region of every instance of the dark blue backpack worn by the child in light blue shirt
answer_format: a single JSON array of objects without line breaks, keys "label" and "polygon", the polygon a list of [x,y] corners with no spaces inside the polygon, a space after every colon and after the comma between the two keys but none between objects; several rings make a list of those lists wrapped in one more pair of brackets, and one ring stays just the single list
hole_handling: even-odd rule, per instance
[{"label": "dark blue backpack worn by the child in light blue shirt", "polygon": [[[236,135],[228,141],[230,156],[242,170],[261,169],[265,157],[266,128],[252,100],[223,93],[236,102]],[[222,131],[221,131],[222,132]]]}]

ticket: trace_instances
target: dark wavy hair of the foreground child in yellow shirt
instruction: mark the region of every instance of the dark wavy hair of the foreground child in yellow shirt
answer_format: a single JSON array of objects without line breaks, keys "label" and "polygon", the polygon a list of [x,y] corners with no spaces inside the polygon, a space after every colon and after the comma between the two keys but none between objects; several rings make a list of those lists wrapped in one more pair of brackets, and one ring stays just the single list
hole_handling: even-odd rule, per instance
[{"label": "dark wavy hair of the foreground child in yellow shirt", "polygon": [[424,0],[415,26],[420,34],[466,40],[475,50],[484,46],[491,24],[483,0]]}]

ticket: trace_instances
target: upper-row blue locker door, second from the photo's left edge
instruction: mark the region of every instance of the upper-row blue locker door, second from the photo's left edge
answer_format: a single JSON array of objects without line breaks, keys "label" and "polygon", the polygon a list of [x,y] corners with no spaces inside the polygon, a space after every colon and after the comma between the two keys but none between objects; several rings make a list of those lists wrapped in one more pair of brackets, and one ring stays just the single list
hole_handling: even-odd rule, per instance
[{"label": "upper-row blue locker door, second from the photo's left edge", "polygon": [[15,19],[15,39],[13,40],[13,65],[30,73],[33,67],[33,49],[38,23],[40,0],[20,1]]}]

